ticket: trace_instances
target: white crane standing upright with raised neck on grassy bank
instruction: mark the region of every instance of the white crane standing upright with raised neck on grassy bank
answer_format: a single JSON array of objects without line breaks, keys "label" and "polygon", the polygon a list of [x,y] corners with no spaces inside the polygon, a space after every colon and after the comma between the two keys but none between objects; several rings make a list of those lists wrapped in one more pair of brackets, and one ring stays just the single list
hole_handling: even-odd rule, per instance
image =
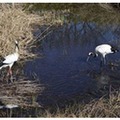
[{"label": "white crane standing upright with raised neck on grassy bank", "polygon": [[13,54],[10,54],[6,57],[4,57],[4,60],[0,66],[0,69],[4,68],[4,67],[9,67],[7,76],[12,76],[12,66],[14,64],[14,62],[16,62],[18,60],[19,57],[19,46],[18,46],[18,41],[15,41],[15,52]]}]

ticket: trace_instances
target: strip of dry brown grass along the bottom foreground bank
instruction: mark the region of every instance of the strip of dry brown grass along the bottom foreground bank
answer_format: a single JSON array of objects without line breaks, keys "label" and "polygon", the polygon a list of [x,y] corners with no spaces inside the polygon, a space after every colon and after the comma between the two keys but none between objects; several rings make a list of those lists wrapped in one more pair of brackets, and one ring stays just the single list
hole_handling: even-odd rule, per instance
[{"label": "strip of dry brown grass along the bottom foreground bank", "polygon": [[[84,118],[84,117],[120,117],[120,93],[113,91],[110,93],[109,98],[106,96],[100,99],[94,99],[89,103],[78,103],[66,105],[65,108],[41,108],[24,106],[21,110],[14,112],[14,117],[45,117],[45,118]],[[6,116],[6,112],[0,112],[1,116]]]}]

